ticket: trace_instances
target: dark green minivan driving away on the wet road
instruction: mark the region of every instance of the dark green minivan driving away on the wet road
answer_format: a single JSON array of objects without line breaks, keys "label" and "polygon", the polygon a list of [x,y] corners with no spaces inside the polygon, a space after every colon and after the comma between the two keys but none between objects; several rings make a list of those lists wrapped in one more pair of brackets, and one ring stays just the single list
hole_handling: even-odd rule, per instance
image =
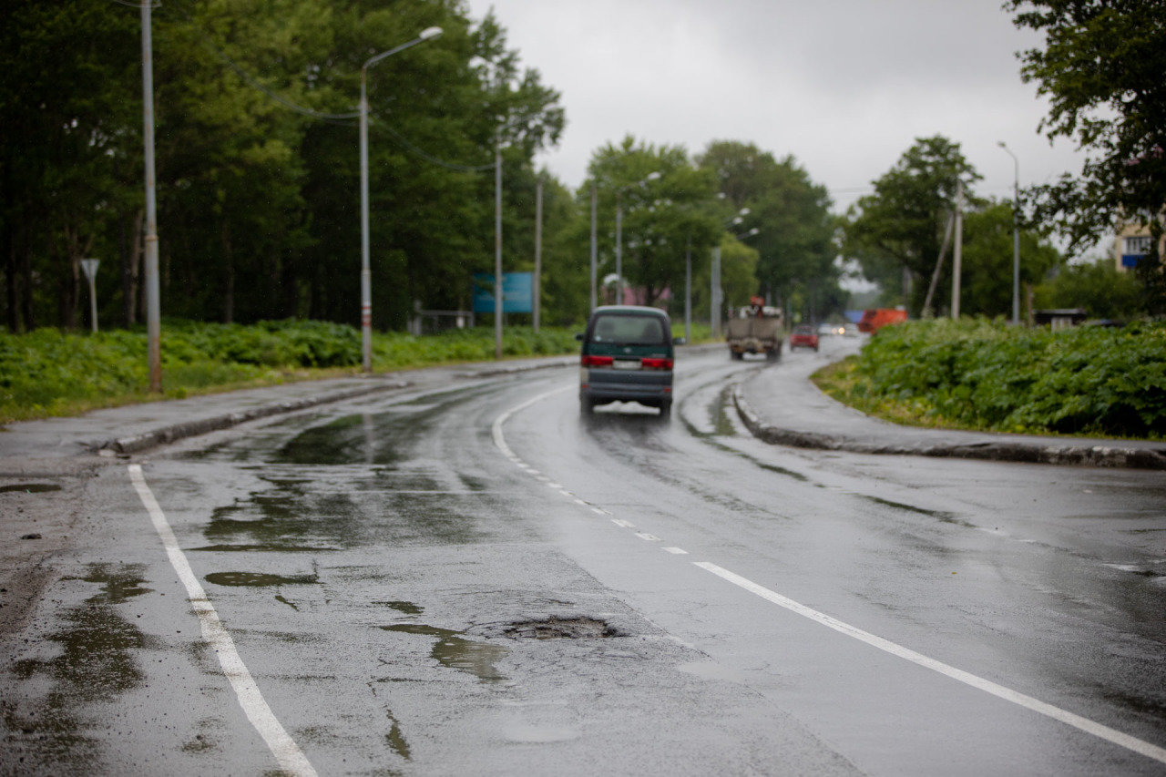
[{"label": "dark green minivan driving away on the wet road", "polygon": [[637,401],[672,412],[673,345],[668,314],[658,308],[609,306],[596,308],[580,356],[580,410],[590,415],[596,405]]}]

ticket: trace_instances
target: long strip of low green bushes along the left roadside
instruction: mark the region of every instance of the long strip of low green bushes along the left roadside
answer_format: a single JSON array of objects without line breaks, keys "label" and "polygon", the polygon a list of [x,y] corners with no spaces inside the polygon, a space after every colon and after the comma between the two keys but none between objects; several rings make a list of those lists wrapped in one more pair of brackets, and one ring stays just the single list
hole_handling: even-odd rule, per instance
[{"label": "long strip of low green bushes along the left roadside", "polygon": [[[311,377],[311,370],[358,369],[361,363],[359,330],[323,321],[264,321],[245,327],[167,318],[161,349],[163,384],[171,398]],[[576,349],[574,330],[562,328],[542,328],[535,335],[531,327],[508,327],[503,338],[504,356]],[[491,328],[423,337],[373,335],[373,368],[380,371],[493,356]],[[147,338],[141,330],[0,332],[0,422],[141,401],[149,398],[148,387]]]}]

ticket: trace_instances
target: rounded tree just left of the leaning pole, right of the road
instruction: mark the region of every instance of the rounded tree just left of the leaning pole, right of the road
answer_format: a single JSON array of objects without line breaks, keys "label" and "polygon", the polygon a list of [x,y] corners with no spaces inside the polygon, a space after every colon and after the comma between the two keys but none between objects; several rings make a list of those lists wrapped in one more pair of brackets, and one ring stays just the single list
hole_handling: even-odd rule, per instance
[{"label": "rounded tree just left of the leaning pole, right of the road", "polygon": [[845,254],[862,261],[868,278],[904,279],[902,303],[922,308],[939,260],[948,217],[955,211],[956,183],[974,204],[971,183],[981,175],[963,158],[960,144],[942,135],[919,138],[886,174],[874,194],[862,197],[843,225]]}]

